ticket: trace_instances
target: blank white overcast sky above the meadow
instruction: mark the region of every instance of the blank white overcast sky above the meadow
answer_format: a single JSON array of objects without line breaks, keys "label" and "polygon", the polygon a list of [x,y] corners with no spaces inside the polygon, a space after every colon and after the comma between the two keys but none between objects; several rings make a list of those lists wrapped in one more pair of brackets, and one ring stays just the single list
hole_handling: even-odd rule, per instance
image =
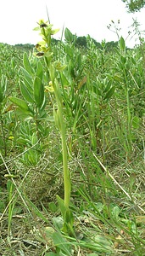
[{"label": "blank white overcast sky above the meadow", "polygon": [[[107,28],[111,20],[116,26],[120,20],[123,38],[131,31],[132,18],[141,24],[140,30],[145,30],[145,8],[128,14],[121,0],[0,0],[0,43],[37,44],[41,38],[33,28],[39,20],[47,20],[47,11],[53,28],[60,29],[54,36],[57,39],[61,38],[63,27],[68,27],[78,37],[89,34],[99,43],[117,41],[116,33]],[[138,44],[137,36],[126,39],[127,46],[134,44]]]}]

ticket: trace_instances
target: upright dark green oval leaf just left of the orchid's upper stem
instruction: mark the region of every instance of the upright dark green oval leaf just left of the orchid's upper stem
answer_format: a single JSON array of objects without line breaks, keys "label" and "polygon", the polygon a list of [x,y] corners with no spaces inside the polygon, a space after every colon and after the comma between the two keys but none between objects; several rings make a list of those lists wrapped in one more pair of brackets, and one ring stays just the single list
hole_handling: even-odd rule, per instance
[{"label": "upright dark green oval leaf just left of the orchid's upper stem", "polygon": [[34,98],[36,106],[42,108],[42,105],[44,104],[44,86],[41,79],[38,77],[34,80]]}]

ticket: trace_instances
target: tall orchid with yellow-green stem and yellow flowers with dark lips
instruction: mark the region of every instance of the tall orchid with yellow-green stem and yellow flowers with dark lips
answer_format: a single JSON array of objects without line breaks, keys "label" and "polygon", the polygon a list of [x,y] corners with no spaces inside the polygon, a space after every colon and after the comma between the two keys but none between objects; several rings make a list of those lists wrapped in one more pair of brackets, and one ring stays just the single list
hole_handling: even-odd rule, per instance
[{"label": "tall orchid with yellow-green stem and yellow flowers with dark lips", "polygon": [[48,85],[45,87],[50,93],[54,93],[57,109],[55,103],[53,104],[53,116],[57,127],[59,128],[59,133],[62,142],[62,152],[63,152],[63,168],[64,168],[64,201],[57,195],[59,201],[59,207],[64,218],[64,231],[72,233],[73,216],[70,212],[70,171],[68,167],[68,152],[66,143],[66,131],[64,125],[63,117],[63,99],[61,93],[61,85],[57,79],[58,73],[61,73],[65,65],[62,65],[60,61],[53,61],[53,49],[51,47],[51,37],[59,29],[53,30],[53,25],[40,20],[38,27],[35,30],[40,31],[42,36],[42,41],[36,44],[36,56],[43,57],[45,65],[47,67],[47,72],[49,74]]}]

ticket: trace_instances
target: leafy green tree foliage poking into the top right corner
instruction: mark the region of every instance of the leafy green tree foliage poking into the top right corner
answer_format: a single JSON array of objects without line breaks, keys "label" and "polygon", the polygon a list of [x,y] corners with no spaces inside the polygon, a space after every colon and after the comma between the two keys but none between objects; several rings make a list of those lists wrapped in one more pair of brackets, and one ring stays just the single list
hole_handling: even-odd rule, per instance
[{"label": "leafy green tree foliage poking into the top right corner", "polygon": [[140,11],[145,6],[145,0],[122,0],[130,13]]}]

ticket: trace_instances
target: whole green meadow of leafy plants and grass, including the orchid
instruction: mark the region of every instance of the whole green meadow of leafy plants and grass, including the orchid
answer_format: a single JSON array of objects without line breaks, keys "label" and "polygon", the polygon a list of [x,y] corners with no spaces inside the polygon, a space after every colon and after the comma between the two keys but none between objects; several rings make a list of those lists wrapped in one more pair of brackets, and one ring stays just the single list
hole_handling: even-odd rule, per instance
[{"label": "whole green meadow of leafy plants and grass, including the orchid", "polygon": [[0,255],[143,256],[144,40],[36,31],[0,44]]}]

